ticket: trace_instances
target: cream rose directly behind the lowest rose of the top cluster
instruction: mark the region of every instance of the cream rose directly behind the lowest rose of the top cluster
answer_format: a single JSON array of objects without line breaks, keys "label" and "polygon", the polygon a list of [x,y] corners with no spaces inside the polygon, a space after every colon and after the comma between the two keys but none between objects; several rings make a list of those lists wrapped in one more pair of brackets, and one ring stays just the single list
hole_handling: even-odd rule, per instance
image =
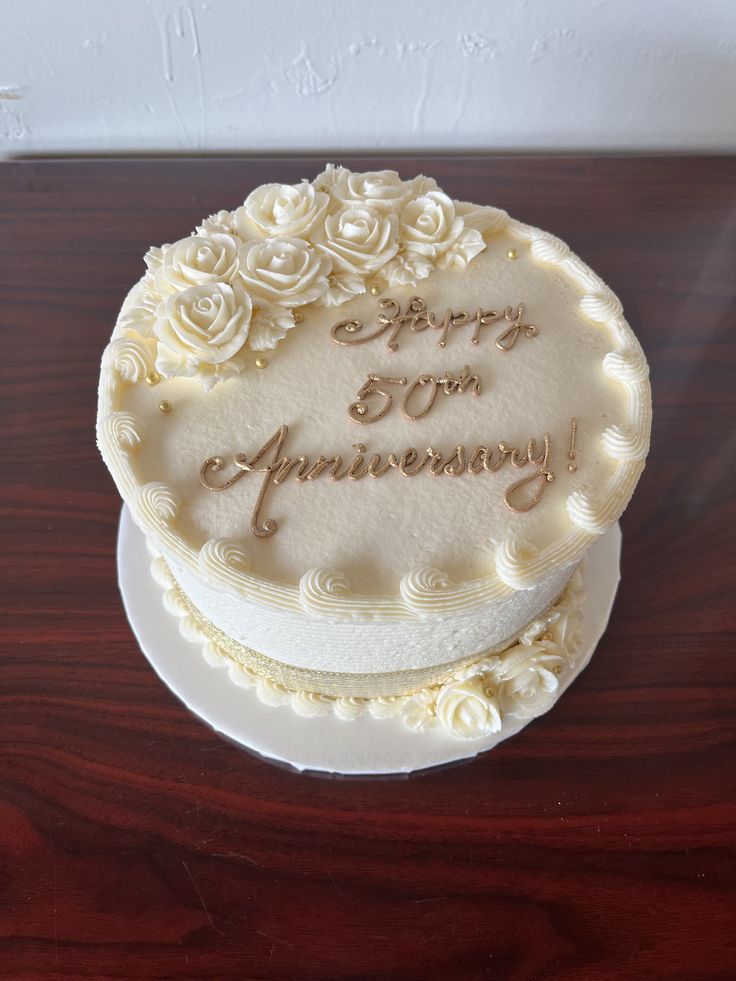
[{"label": "cream rose directly behind the lowest rose of the top cluster", "polygon": [[240,243],[232,235],[192,235],[161,254],[155,271],[156,287],[162,296],[192,286],[208,286],[229,279],[237,272]]}]

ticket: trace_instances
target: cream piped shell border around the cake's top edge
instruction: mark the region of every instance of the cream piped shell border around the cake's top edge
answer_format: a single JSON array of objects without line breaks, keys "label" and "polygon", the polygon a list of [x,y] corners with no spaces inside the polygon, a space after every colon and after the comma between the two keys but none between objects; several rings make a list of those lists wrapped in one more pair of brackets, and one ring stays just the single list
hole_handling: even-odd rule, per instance
[{"label": "cream piped shell border around the cake's top edge", "polygon": [[[341,589],[337,593],[327,591],[315,597],[313,591],[305,594],[304,589],[304,579],[311,573],[307,573],[298,585],[285,585],[242,569],[228,567],[227,570],[222,570],[215,565],[209,566],[207,570],[210,582],[236,589],[255,602],[281,610],[308,612],[314,616],[370,620],[447,616],[475,609],[515,590],[533,587],[555,568],[579,560],[588,546],[618,520],[644,469],[644,458],[649,447],[651,392],[641,346],[623,317],[618,298],[565,243],[541,229],[512,218],[504,225],[503,230],[529,243],[534,259],[557,266],[579,287],[588,291],[581,298],[580,307],[590,319],[591,329],[604,327],[612,335],[614,347],[603,359],[603,370],[608,377],[626,386],[627,419],[622,422],[625,427],[622,432],[631,434],[631,445],[634,447],[631,452],[637,459],[631,459],[631,453],[622,452],[621,440],[603,440],[604,451],[609,446],[618,454],[611,456],[611,459],[616,460],[615,472],[608,484],[594,496],[580,491],[569,495],[567,512],[573,526],[570,533],[542,551],[523,542],[510,540],[502,543],[496,551],[494,572],[483,579],[452,583],[446,588],[422,590],[414,587],[425,576],[426,570],[416,570],[405,577],[398,596],[352,595]],[[134,286],[128,294],[121,315],[135,289]],[[113,339],[118,336],[114,333]],[[117,387],[125,378],[118,373],[115,359],[108,353],[109,350],[109,347],[106,348],[100,373],[97,415],[97,443],[102,457],[123,500],[146,535],[153,537],[163,551],[174,556],[176,561],[202,574],[200,550],[185,542],[170,527],[176,514],[173,492],[162,484],[156,484],[158,501],[152,500],[153,485],[141,487],[133,474],[131,457],[135,447],[126,444],[124,440],[116,441],[110,436],[115,427],[108,422],[108,417],[116,411]],[[136,356],[145,358],[146,353],[144,350],[141,355],[141,352],[136,351]],[[135,419],[132,419],[132,425],[135,426]],[[625,458],[622,459],[622,456]],[[203,547],[208,544],[205,543]],[[335,580],[340,574],[328,575]],[[315,577],[312,582],[314,581]],[[405,583],[412,588],[407,588]]]}]

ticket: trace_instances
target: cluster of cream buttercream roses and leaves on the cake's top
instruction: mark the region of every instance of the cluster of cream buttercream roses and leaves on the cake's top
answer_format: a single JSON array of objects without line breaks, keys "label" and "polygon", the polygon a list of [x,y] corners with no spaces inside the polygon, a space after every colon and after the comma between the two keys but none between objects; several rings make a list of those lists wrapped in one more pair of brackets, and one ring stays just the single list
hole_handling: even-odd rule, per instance
[{"label": "cluster of cream buttercream roses and leaves on the cake's top", "polygon": [[125,327],[155,339],[156,370],[206,388],[239,374],[300,322],[369,284],[416,285],[466,266],[503,212],[455,202],[434,180],[328,165],[311,183],[264,184],[188,238],[152,248]]}]

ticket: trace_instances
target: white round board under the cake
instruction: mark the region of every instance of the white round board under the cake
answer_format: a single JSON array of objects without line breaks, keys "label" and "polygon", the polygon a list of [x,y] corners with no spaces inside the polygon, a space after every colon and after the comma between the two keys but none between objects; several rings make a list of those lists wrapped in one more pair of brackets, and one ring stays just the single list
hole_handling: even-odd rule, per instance
[{"label": "white round board under the cake", "polygon": [[[619,583],[620,555],[618,525],[587,553],[581,656],[574,671],[561,681],[558,697],[587,665],[606,629]],[[265,705],[255,689],[233,684],[226,670],[205,661],[199,643],[179,633],[179,621],[164,609],[162,589],[151,575],[144,535],[127,507],[120,517],[117,561],[128,620],[164,684],[218,733],[267,759],[325,773],[411,773],[476,756],[534,721],[506,716],[501,732],[458,740],[439,727],[416,732],[396,717],[374,719],[366,713],[343,722],[332,714],[303,718],[288,705]]]}]

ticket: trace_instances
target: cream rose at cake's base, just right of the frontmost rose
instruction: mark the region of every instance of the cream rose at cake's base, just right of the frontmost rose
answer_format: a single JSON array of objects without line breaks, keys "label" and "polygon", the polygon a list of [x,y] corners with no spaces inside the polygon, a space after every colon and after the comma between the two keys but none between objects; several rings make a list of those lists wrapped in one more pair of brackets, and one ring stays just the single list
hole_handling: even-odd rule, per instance
[{"label": "cream rose at cake's base, just right of the frontmost rose", "polygon": [[498,669],[504,712],[531,718],[546,711],[559,687],[565,659],[544,644],[517,644],[506,651]]}]

